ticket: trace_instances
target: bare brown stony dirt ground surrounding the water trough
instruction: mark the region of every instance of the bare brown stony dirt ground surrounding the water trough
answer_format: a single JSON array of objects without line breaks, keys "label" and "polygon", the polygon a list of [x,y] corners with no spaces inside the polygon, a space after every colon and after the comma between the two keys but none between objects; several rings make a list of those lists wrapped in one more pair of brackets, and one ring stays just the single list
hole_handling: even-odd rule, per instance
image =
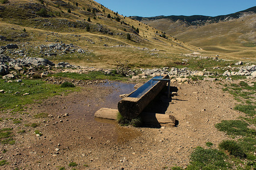
[{"label": "bare brown stony dirt ground surrounding the water trough", "polygon": [[[40,122],[36,128],[0,121],[2,128],[26,130],[24,134],[15,134],[15,145],[0,146],[1,160],[9,162],[1,169],[186,167],[193,148],[206,147],[206,142],[217,147],[223,139],[228,139],[214,128],[215,124],[242,116],[232,109],[236,104],[233,96],[222,91],[218,82],[200,80],[171,84],[177,87],[177,95],[162,103],[166,114],[172,114],[179,121],[176,127],[122,127],[115,121],[94,118],[94,113],[102,107],[117,108],[119,94],[133,91],[133,86],[117,82],[85,85],[80,92],[30,105],[27,109],[30,114],[18,117],[23,118],[24,124]],[[52,117],[34,118],[37,113],[52,114]],[[65,113],[68,116],[64,117]],[[43,135],[34,134],[35,129]],[[78,165],[69,167],[71,162]]]}]

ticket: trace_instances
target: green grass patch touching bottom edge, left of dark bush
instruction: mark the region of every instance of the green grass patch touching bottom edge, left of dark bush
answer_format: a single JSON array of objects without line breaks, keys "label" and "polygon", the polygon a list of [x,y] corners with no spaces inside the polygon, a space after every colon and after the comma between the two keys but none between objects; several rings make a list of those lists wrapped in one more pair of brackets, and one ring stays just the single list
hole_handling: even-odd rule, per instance
[{"label": "green grass patch touching bottom edge, left of dark bush", "polygon": [[196,147],[191,154],[191,162],[187,169],[229,169],[228,156],[217,149]]}]

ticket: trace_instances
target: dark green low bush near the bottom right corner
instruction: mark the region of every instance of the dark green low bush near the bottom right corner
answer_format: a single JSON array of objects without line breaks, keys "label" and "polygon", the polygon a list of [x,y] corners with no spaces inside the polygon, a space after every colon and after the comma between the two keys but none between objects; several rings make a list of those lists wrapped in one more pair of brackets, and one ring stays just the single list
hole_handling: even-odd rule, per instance
[{"label": "dark green low bush near the bottom right corner", "polygon": [[238,158],[246,158],[245,152],[243,152],[242,148],[235,141],[222,141],[219,144],[219,147],[229,151],[230,155],[234,155]]}]

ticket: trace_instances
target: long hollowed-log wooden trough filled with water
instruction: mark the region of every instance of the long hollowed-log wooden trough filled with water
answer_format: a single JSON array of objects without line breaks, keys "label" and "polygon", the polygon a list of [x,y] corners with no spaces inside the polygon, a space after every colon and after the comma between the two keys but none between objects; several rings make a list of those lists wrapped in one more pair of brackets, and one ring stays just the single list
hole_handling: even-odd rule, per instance
[{"label": "long hollowed-log wooden trough filled with water", "polygon": [[166,81],[153,79],[168,79],[168,75],[155,76],[148,80],[137,90],[131,92],[127,97],[118,102],[118,111],[125,118],[135,118],[142,113],[143,109],[159,94],[164,87]]}]

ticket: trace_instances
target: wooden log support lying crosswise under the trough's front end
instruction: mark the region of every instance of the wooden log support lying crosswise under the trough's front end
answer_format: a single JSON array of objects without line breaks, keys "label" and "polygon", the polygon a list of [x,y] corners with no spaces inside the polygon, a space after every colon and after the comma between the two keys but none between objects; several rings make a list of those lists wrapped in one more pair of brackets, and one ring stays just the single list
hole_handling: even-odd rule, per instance
[{"label": "wooden log support lying crosswise under the trough's front end", "polygon": [[[106,118],[116,120],[118,115],[117,109],[101,108],[94,116],[97,118]],[[175,126],[176,118],[170,114],[145,113],[141,114],[142,122],[150,125]]]}]

